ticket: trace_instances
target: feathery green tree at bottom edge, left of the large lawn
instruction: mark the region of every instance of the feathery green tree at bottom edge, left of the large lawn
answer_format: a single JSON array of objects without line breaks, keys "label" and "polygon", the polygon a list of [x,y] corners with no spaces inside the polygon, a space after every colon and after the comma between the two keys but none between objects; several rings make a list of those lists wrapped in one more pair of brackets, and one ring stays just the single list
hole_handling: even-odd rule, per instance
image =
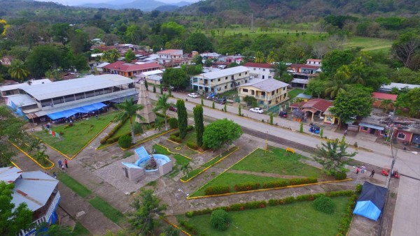
[{"label": "feathery green tree at bottom edge, left of the large lawn", "polygon": [[132,230],[139,235],[149,235],[158,226],[158,217],[163,215],[166,205],[160,204],[160,199],[151,189],[141,189],[139,198],[132,202],[135,212],[130,216]]}]

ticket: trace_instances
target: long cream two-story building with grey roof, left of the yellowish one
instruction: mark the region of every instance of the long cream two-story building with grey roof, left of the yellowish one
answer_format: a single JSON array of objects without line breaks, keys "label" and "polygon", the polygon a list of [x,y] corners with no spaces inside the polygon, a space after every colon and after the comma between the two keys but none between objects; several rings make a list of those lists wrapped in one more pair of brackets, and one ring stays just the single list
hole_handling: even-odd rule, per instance
[{"label": "long cream two-story building with grey roof, left of the yellowish one", "polygon": [[235,66],[220,71],[193,75],[191,77],[191,86],[194,90],[222,93],[236,89],[237,86],[249,80],[249,69],[245,66]]}]

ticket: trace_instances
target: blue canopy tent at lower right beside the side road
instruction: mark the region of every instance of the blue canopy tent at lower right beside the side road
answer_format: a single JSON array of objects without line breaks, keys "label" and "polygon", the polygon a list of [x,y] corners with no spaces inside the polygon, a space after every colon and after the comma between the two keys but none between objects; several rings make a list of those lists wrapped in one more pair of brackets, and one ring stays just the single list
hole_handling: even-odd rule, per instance
[{"label": "blue canopy tent at lower right beside the side road", "polygon": [[384,187],[365,182],[353,214],[365,216],[376,221],[384,208],[386,191],[387,189]]}]

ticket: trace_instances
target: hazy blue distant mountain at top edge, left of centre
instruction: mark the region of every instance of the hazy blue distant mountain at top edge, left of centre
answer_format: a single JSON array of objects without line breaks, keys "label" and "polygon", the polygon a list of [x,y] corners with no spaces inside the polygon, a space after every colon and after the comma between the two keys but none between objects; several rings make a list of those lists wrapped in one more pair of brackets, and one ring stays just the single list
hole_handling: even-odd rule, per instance
[{"label": "hazy blue distant mountain at top edge, left of centre", "polygon": [[125,9],[125,8],[134,8],[140,9],[143,11],[152,11],[152,10],[160,10],[160,11],[172,11],[176,8],[188,6],[190,2],[187,1],[180,1],[178,3],[163,3],[161,1],[154,1],[154,0],[113,0],[108,1],[106,3],[86,3],[83,4],[83,7],[89,8],[111,8],[111,9]]}]

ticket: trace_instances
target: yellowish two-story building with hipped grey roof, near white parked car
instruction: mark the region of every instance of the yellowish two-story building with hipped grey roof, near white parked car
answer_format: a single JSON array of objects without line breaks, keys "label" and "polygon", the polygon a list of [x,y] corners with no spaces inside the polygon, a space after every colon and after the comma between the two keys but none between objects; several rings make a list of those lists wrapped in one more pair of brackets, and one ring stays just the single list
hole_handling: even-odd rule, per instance
[{"label": "yellowish two-story building with hipped grey roof, near white parked car", "polygon": [[258,105],[270,107],[287,98],[287,87],[288,84],[279,80],[253,79],[238,86],[239,98],[244,101],[246,96],[253,96]]}]

